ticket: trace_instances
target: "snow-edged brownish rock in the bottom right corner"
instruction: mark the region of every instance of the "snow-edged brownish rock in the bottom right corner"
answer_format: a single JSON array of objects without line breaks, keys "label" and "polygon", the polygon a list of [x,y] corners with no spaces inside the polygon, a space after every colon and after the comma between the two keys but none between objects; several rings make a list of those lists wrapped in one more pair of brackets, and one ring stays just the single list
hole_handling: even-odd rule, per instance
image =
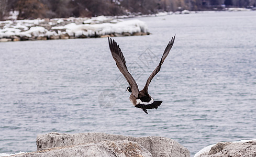
[{"label": "snow-edged brownish rock in the bottom right corner", "polygon": [[256,156],[256,140],[243,142],[219,142],[209,151],[196,154],[195,157],[230,157],[230,156]]}]

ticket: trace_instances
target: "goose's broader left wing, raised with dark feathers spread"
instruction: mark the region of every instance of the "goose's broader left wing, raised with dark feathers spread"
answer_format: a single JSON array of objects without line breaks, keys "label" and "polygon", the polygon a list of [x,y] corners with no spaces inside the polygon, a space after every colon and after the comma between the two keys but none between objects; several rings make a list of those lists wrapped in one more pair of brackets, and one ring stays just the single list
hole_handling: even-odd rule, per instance
[{"label": "goose's broader left wing, raised with dark feathers spread", "polygon": [[119,48],[119,45],[117,45],[116,41],[112,40],[109,37],[108,37],[108,44],[109,44],[109,49],[111,51],[112,57],[116,61],[117,68],[125,76],[125,79],[127,80],[127,82],[129,83],[129,85],[131,87],[132,95],[134,95],[135,97],[138,97],[139,88],[138,88],[136,81],[134,80],[134,78],[131,76],[131,74],[127,70],[123,52]]}]

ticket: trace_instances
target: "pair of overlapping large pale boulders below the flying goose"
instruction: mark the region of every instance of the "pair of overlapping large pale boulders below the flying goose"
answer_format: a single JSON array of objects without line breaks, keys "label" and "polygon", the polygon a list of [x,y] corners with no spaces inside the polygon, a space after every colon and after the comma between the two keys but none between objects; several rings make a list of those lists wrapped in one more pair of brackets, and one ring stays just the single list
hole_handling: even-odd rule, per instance
[{"label": "pair of overlapping large pale boulders below the flying goose", "polygon": [[190,151],[164,137],[129,137],[107,133],[57,133],[37,136],[37,152],[14,156],[173,156],[188,157]]}]

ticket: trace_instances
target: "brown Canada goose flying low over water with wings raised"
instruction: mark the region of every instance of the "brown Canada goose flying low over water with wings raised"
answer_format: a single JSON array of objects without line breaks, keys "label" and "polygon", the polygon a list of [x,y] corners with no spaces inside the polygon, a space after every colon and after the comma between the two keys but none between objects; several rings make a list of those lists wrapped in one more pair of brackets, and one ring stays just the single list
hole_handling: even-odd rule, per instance
[{"label": "brown Canada goose flying low over water with wings raised", "polygon": [[112,57],[116,61],[117,68],[120,70],[120,72],[125,76],[127,82],[130,86],[127,87],[127,91],[131,93],[130,95],[130,101],[135,107],[142,108],[142,110],[148,114],[147,109],[155,108],[157,109],[158,106],[162,104],[162,101],[154,101],[154,99],[148,94],[148,86],[152,80],[152,78],[160,71],[161,65],[163,64],[164,59],[169,54],[173,43],[174,43],[175,36],[172,38],[171,41],[169,41],[167,47],[165,48],[162,58],[160,60],[160,63],[158,64],[157,68],[154,69],[154,71],[149,76],[146,85],[144,88],[139,91],[138,85],[134,78],[131,76],[129,71],[127,70],[125,57],[123,55],[123,52],[119,48],[119,45],[117,45],[115,40],[112,40],[108,37],[108,44],[109,49],[111,51]]}]

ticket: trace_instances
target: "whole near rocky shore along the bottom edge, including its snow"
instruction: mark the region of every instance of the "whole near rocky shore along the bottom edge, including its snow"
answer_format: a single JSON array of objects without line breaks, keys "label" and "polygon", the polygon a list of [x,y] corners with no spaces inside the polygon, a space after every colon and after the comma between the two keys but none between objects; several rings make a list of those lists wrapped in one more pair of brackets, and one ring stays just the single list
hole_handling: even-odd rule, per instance
[{"label": "whole near rocky shore along the bottom edge, including its snow", "polygon": [[[36,143],[36,152],[18,153],[12,156],[190,156],[190,151],[180,143],[156,136],[130,137],[95,132],[75,134],[51,132],[38,135]],[[256,156],[256,140],[219,142],[202,149],[194,157],[220,156]]]}]

